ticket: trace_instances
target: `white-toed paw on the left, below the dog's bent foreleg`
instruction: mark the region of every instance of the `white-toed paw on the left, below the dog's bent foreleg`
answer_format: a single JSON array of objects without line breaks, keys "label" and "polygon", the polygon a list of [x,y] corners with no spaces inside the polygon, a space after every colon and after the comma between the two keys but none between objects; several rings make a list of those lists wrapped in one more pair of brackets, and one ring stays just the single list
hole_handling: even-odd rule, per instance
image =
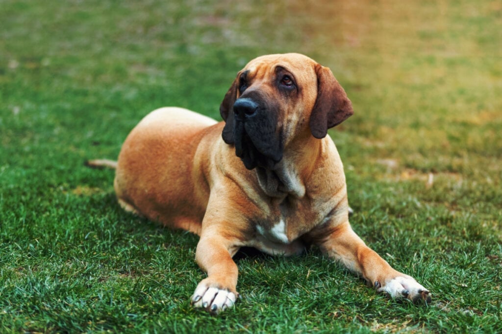
[{"label": "white-toed paw on the left, below the dog's bent foreleg", "polygon": [[191,297],[194,307],[205,308],[212,314],[218,314],[228,307],[232,307],[236,300],[236,293],[228,289],[209,286],[202,280]]}]

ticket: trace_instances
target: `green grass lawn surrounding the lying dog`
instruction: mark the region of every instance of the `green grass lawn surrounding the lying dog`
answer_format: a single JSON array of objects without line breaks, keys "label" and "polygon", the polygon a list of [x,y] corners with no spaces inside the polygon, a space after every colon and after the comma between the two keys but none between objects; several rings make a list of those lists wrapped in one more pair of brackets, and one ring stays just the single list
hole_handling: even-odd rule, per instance
[{"label": "green grass lawn surrounding the lying dog", "polygon": [[[155,108],[218,119],[236,72],[284,52],[352,100],[330,134],[353,229],[428,306],[312,249],[239,256],[236,307],[195,310],[197,237],[84,167]],[[499,1],[0,0],[0,332],[502,332],[501,217]]]}]

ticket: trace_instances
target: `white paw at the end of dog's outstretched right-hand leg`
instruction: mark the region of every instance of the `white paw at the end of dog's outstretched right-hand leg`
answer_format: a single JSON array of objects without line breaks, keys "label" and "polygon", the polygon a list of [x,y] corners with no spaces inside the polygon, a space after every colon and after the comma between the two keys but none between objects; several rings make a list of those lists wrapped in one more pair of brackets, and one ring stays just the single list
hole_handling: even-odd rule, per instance
[{"label": "white paw at the end of dog's outstretched right-hand leg", "polygon": [[407,298],[413,303],[425,301],[430,303],[431,293],[410,276],[397,276],[386,282],[375,281],[377,292],[387,293],[392,298]]}]

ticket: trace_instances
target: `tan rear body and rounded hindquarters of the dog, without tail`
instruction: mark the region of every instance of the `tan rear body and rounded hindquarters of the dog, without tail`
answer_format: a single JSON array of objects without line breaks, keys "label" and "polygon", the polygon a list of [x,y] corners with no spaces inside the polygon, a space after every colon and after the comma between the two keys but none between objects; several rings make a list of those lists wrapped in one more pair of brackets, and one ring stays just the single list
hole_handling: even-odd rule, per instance
[{"label": "tan rear body and rounded hindquarters of the dog, without tail", "polygon": [[[143,118],[118,156],[114,187],[121,206],[200,233],[208,189],[205,182],[194,179],[201,173],[193,162],[202,135],[216,124],[209,117],[175,107],[157,109]],[[166,166],[171,169],[166,171]],[[200,196],[195,198],[201,203],[186,203],[197,193]]]}]

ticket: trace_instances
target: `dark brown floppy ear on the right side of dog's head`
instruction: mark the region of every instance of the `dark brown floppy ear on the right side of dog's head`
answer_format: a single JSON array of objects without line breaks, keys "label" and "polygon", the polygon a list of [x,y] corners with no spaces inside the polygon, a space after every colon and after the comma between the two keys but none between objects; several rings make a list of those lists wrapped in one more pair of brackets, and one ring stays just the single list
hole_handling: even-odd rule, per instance
[{"label": "dark brown floppy ear on the right side of dog's head", "polygon": [[315,138],[326,137],[328,129],[340,124],[354,111],[347,94],[327,67],[316,65],[317,99],[310,115],[310,131]]}]

